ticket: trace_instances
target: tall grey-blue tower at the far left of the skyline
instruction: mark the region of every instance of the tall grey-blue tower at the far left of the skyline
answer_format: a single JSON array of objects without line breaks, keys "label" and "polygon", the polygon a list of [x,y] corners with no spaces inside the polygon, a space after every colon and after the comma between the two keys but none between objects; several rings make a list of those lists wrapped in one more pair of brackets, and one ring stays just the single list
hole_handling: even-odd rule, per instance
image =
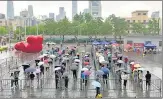
[{"label": "tall grey-blue tower at the far left of the skyline", "polygon": [[7,19],[14,19],[14,4],[13,1],[7,1]]}]

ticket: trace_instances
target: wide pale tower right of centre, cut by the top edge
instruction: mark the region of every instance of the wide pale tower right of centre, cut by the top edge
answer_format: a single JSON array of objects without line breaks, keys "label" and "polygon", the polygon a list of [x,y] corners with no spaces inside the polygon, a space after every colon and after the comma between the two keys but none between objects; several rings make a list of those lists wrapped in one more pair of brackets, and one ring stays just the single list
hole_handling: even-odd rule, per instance
[{"label": "wide pale tower right of centre, cut by the top edge", "polygon": [[89,1],[89,12],[94,17],[102,17],[101,1]]}]

